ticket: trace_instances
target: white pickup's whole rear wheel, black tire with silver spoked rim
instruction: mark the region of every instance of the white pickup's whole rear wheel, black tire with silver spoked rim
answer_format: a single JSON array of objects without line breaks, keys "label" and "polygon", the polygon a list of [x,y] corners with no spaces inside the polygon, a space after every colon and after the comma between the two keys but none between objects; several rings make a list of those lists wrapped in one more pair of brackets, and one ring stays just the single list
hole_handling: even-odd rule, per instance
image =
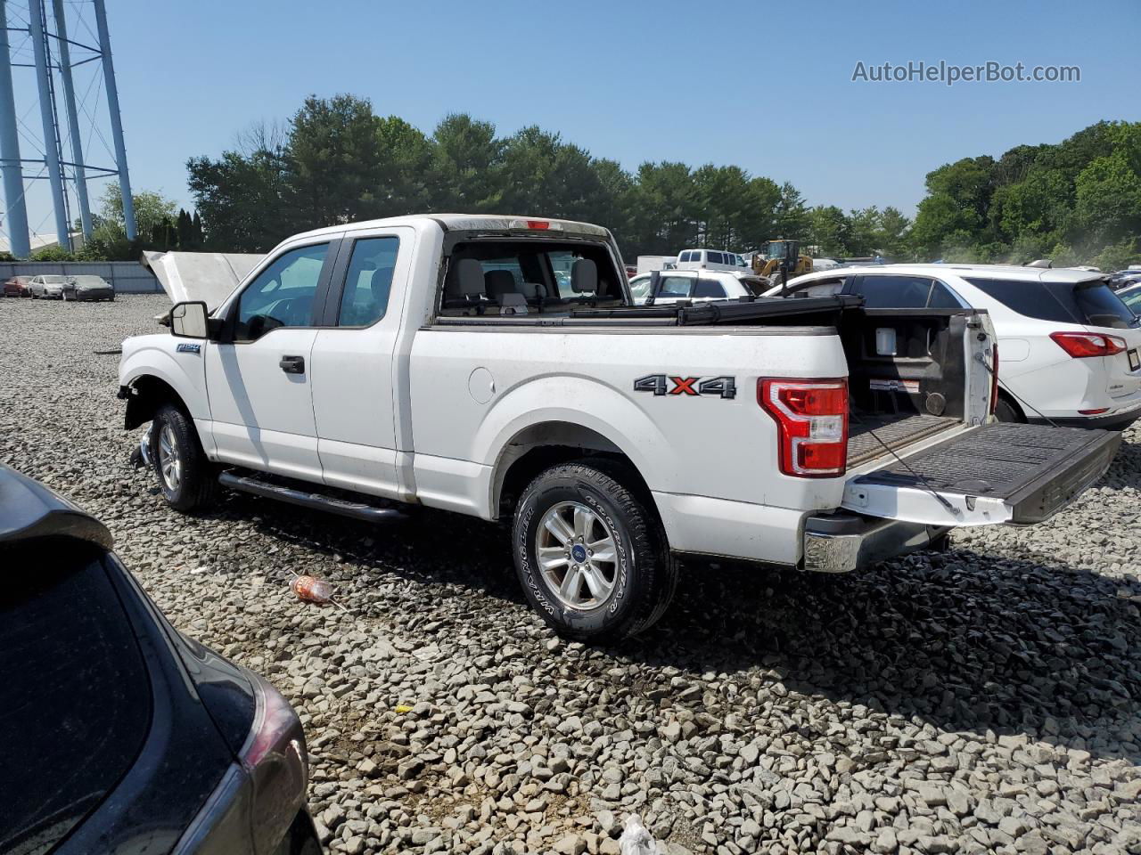
[{"label": "white pickup's whole rear wheel, black tire with silver spoked rim", "polygon": [[678,567],[646,500],[608,461],[553,466],[524,491],[515,567],[532,605],[560,635],[618,641],[665,612]]}]

